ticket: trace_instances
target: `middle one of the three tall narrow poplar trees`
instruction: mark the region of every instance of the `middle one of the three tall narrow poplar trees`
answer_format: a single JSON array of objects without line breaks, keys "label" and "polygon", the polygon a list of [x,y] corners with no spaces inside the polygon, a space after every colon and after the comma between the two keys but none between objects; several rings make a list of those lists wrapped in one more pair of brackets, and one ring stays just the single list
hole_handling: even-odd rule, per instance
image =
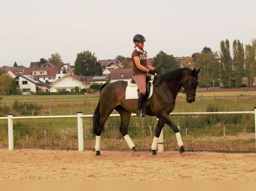
[{"label": "middle one of the three tall narrow poplar trees", "polygon": [[239,40],[233,41],[233,78],[237,88],[243,83],[244,47]]}]

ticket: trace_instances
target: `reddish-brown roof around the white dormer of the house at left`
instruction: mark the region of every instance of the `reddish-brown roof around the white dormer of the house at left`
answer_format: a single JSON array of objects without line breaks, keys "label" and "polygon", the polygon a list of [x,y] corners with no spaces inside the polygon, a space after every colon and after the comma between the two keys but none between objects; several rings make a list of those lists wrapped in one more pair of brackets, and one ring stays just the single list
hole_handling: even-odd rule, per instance
[{"label": "reddish-brown roof around the white dormer of the house at left", "polygon": [[[47,71],[47,75],[33,75],[33,72],[36,71]],[[33,77],[56,77],[56,74],[59,74],[58,69],[55,67],[35,67],[35,68],[25,68],[24,75],[31,75]]]}]

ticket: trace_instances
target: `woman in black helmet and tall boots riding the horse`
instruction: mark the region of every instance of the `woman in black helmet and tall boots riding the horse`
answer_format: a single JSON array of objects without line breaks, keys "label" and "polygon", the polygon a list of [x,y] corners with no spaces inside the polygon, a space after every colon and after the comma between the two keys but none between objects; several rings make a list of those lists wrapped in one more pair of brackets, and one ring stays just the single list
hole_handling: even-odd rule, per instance
[{"label": "woman in black helmet and tall boots riding the horse", "polygon": [[149,65],[147,59],[147,52],[143,49],[145,38],[137,34],[133,37],[134,51],[132,52],[133,74],[132,78],[138,85],[140,94],[138,96],[137,116],[143,117],[145,114],[142,112],[143,104],[146,95],[146,77],[149,74],[157,74],[157,70]]}]

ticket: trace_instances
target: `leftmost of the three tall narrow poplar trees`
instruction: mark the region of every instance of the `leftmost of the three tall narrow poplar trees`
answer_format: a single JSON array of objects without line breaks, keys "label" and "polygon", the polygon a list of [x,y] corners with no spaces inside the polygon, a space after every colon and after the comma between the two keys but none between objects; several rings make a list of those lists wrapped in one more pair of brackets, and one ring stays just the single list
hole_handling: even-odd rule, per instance
[{"label": "leftmost of the three tall narrow poplar trees", "polygon": [[232,62],[230,56],[230,47],[229,47],[229,40],[221,41],[220,43],[220,57],[221,57],[221,64],[220,64],[220,80],[223,84],[224,88],[230,87],[230,81],[232,77]]}]

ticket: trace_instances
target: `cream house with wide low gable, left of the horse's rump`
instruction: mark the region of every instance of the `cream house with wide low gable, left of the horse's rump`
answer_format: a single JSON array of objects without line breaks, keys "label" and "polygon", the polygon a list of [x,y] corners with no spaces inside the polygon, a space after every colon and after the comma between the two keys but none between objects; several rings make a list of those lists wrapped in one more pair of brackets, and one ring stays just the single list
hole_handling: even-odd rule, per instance
[{"label": "cream house with wide low gable, left of the horse's rump", "polygon": [[90,87],[90,84],[91,82],[87,82],[75,74],[66,74],[50,84],[50,92],[74,92],[75,87],[78,87],[80,92],[81,89]]}]

